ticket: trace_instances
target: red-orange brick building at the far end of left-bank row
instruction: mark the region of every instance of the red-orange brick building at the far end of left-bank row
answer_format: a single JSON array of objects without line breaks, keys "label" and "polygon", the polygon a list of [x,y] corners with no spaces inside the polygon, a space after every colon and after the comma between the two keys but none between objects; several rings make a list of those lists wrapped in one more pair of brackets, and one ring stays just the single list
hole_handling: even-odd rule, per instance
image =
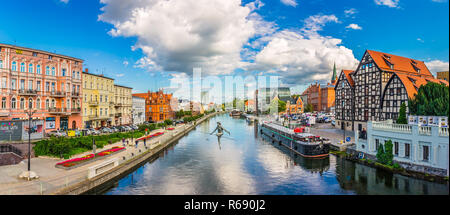
[{"label": "red-orange brick building at the far end of left-bank row", "polygon": [[135,93],[133,96],[145,99],[145,118],[147,121],[159,122],[175,117],[172,106],[176,106],[176,104],[173,104],[176,99],[172,94],[165,94],[162,90],[159,90],[158,92]]}]

